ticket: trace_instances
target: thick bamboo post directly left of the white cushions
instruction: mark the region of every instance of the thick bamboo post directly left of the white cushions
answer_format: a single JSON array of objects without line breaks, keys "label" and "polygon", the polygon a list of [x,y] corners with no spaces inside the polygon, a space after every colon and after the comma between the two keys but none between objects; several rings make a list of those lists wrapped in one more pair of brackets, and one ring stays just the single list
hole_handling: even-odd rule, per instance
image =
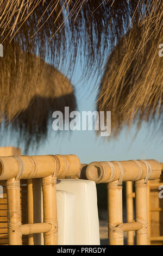
[{"label": "thick bamboo post directly left of the white cushions", "polygon": [[44,245],[58,244],[56,176],[42,178],[43,222],[52,224],[52,229],[43,233]]}]

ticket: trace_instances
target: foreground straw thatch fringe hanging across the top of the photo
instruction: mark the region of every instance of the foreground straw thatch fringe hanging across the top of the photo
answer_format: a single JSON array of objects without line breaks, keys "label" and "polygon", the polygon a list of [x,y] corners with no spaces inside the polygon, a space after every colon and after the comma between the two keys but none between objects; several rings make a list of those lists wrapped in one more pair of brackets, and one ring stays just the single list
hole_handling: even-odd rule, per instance
[{"label": "foreground straw thatch fringe hanging across the top of the photo", "polygon": [[152,36],[158,33],[162,1],[4,0],[0,2],[0,22],[2,41],[14,38],[26,52],[42,58],[48,55],[55,66],[67,58],[73,70],[77,54],[84,50],[89,74],[88,70],[99,69],[105,54],[133,24],[141,27],[139,49],[149,40],[151,29]]}]

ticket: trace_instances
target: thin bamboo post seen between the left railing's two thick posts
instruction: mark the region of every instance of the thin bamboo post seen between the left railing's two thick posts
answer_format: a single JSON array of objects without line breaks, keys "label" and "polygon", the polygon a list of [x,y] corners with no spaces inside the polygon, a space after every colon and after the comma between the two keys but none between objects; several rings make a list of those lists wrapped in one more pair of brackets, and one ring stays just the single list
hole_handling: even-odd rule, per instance
[{"label": "thin bamboo post seen between the left railing's two thick posts", "polygon": [[[27,180],[27,208],[28,208],[28,224],[34,223],[33,209],[33,180]],[[34,235],[28,235],[28,245],[34,245]]]}]

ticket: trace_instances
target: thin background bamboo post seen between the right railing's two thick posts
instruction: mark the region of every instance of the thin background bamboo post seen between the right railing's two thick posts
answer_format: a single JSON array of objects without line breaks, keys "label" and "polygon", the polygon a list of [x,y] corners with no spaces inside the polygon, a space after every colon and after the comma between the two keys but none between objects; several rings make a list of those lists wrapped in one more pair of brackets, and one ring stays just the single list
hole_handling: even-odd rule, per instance
[{"label": "thin background bamboo post seen between the right railing's two thick posts", "polygon": [[[126,181],[127,222],[134,221],[133,182]],[[134,231],[127,232],[127,244],[134,245]]]}]

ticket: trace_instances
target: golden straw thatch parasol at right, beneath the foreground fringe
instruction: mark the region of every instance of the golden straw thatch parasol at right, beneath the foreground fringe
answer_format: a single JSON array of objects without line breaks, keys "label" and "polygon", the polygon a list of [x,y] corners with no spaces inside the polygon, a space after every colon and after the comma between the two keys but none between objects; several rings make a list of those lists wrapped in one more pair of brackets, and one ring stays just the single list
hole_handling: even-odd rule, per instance
[{"label": "golden straw thatch parasol at right, beneath the foreground fringe", "polygon": [[158,120],[163,114],[162,22],[147,26],[143,36],[143,28],[134,25],[108,57],[97,102],[98,111],[111,111],[114,135],[124,125],[136,121],[139,129],[143,120]]}]

